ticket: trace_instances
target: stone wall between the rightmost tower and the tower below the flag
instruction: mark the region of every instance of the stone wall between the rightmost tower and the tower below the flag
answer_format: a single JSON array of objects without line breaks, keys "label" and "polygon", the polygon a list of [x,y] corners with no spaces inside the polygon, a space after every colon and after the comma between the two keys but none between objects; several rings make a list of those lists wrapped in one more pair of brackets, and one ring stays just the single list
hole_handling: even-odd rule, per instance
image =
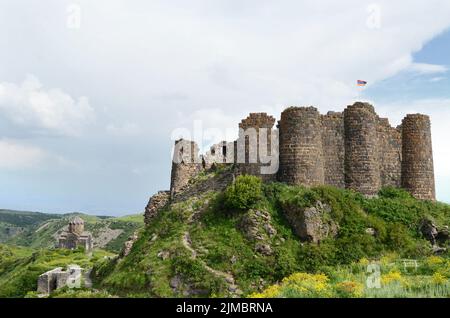
[{"label": "stone wall between the rightmost tower and the tower below the flag", "polygon": [[379,118],[377,126],[381,186],[400,187],[402,134],[391,127],[387,118]]}]

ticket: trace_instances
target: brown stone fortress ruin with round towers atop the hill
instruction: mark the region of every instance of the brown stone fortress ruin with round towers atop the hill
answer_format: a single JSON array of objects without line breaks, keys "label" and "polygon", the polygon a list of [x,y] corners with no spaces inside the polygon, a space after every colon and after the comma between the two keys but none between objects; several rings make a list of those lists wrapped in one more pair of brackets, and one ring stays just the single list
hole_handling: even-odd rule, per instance
[{"label": "brown stone fortress ruin with round towers atop the hill", "polygon": [[[331,185],[374,196],[384,186],[435,200],[431,126],[427,115],[409,114],[391,127],[368,103],[320,114],[314,107],[289,107],[278,125],[266,113],[239,124],[236,141],[222,141],[204,155],[193,141],[175,142],[170,191],[150,199],[145,217],[183,192],[200,172],[232,165],[233,174],[291,185]],[[273,169],[275,167],[275,169]],[[269,169],[270,168],[270,169]]]}]

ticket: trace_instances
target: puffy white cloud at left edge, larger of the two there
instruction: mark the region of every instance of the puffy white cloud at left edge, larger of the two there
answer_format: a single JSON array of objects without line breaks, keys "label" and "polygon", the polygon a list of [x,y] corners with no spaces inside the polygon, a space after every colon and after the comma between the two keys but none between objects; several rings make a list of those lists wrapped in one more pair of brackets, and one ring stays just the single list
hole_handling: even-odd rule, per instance
[{"label": "puffy white cloud at left edge, larger of the two there", "polygon": [[77,100],[57,88],[46,89],[28,75],[21,84],[0,83],[0,118],[29,133],[79,135],[93,121],[86,97]]}]

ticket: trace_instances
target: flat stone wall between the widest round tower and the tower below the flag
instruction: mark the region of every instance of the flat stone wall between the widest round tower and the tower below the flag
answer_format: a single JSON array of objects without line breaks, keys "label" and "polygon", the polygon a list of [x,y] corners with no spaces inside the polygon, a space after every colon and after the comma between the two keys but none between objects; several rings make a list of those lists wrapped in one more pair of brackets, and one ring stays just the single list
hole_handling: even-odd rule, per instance
[{"label": "flat stone wall between the widest round tower and the tower below the flag", "polygon": [[325,184],[345,187],[344,115],[328,112],[322,115],[322,146]]}]

